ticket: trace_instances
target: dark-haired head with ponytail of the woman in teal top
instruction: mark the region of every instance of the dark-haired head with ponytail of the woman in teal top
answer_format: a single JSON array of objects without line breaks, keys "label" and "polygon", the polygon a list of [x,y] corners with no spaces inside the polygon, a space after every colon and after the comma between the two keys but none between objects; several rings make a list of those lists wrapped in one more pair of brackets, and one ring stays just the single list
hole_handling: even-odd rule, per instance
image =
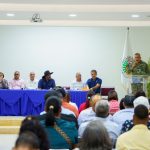
[{"label": "dark-haired head with ponytail of the woman in teal top", "polygon": [[49,97],[46,101],[45,111],[47,112],[45,125],[54,126],[55,116],[61,113],[61,99],[56,96]]}]

